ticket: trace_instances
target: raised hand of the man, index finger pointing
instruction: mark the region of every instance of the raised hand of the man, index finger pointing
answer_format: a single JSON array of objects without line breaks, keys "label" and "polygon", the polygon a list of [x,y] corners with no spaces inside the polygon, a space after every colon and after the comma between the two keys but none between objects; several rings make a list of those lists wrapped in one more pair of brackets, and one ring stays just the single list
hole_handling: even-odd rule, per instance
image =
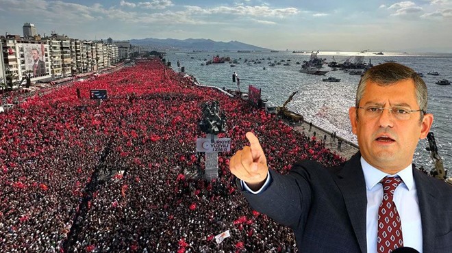
[{"label": "raised hand of the man, index finger pointing", "polygon": [[267,159],[258,137],[251,132],[246,136],[250,145],[244,146],[231,157],[229,169],[254,191],[260,189],[265,183],[268,174]]}]

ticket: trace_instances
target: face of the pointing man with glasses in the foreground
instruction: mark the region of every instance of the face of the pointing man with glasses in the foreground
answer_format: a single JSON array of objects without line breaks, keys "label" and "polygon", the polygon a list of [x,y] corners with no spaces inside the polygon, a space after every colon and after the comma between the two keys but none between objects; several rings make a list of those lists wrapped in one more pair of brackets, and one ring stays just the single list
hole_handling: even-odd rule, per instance
[{"label": "face of the pointing man with glasses in the foreground", "polygon": [[[388,86],[368,81],[359,106],[369,105],[420,109],[412,79]],[[365,114],[364,109],[349,109],[352,131],[357,135],[361,155],[369,164],[389,174],[395,174],[412,163],[418,139],[427,137],[433,122],[431,114],[425,114],[420,122],[419,111],[412,112],[407,120],[395,118],[387,109],[375,118]]]}]

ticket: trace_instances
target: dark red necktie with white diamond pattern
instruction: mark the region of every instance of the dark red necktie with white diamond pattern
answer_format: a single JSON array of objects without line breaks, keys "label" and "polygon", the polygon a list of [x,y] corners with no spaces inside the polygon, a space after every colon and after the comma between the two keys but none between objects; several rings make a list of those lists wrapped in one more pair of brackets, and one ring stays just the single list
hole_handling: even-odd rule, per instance
[{"label": "dark red necktie with white diamond pattern", "polygon": [[386,176],[380,183],[383,185],[383,200],[378,209],[377,252],[390,253],[403,246],[400,216],[392,201],[394,191],[402,180],[399,176]]}]

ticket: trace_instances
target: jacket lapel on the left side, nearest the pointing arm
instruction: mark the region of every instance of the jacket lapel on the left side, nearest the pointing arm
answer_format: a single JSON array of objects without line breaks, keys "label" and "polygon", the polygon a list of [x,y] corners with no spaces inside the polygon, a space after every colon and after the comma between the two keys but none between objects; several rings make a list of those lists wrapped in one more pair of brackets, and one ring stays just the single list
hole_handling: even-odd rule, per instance
[{"label": "jacket lapel on the left side, nearest the pointing arm", "polygon": [[357,152],[339,172],[336,183],[344,198],[347,213],[361,252],[367,252],[366,239],[366,182],[360,162],[360,152]]}]

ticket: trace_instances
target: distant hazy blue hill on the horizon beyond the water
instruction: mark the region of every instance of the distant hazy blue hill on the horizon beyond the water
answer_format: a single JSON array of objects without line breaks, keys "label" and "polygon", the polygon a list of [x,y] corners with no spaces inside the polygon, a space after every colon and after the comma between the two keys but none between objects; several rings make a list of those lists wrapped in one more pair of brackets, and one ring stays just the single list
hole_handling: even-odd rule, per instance
[{"label": "distant hazy blue hill on the horizon beyond the water", "polygon": [[253,46],[250,44],[245,44],[238,42],[236,40],[229,42],[218,42],[210,39],[186,39],[186,40],[176,40],[176,39],[132,39],[130,44],[139,45],[148,49],[153,50],[184,50],[184,51],[237,51],[237,50],[247,50],[247,51],[270,51],[270,49],[265,49],[259,46]]}]

